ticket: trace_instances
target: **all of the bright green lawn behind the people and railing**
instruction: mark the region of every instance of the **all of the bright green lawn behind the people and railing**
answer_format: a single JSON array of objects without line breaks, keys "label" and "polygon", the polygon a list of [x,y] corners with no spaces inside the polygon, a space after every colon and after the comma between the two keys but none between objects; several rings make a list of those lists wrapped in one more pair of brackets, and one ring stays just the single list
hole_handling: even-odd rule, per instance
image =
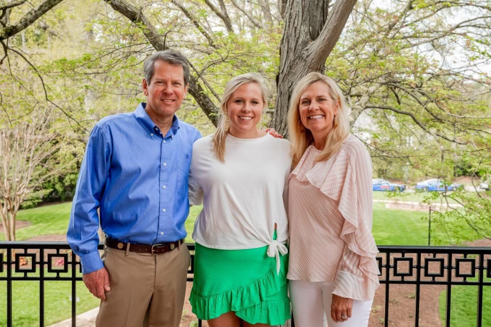
[{"label": "all of the bright green lawn behind the people and railing", "polygon": [[[410,198],[403,198],[402,200],[418,201],[418,199],[422,200],[423,198],[423,195],[420,193],[410,193],[409,196]],[[383,192],[374,192],[374,198],[386,199],[386,195]],[[68,202],[19,211],[18,219],[28,220],[31,222],[31,225],[19,229],[17,231],[17,239],[22,241],[33,236],[66,233],[70,208],[71,203]],[[200,210],[201,206],[190,208],[190,215],[186,221],[186,230],[188,231],[187,242],[192,242],[191,234],[194,228],[194,221]],[[427,245],[428,221],[423,219],[427,215],[427,212],[422,211],[387,209],[384,203],[374,203],[373,235],[377,245]],[[479,238],[477,235],[472,234],[470,228],[462,228],[462,230],[463,233],[470,233],[470,238]],[[2,239],[3,235],[0,235],[0,240]],[[443,233],[432,231],[432,245],[448,245],[453,243],[452,241],[446,238]],[[5,285],[5,282],[0,282],[0,299],[5,298]],[[467,300],[468,298],[475,299],[471,293],[467,294],[468,292],[472,292],[471,289],[465,287],[463,287],[462,291],[457,287],[454,289],[457,290],[455,292],[463,293],[462,296],[457,296],[459,293],[454,293],[452,296],[455,302],[455,305],[452,303],[452,319],[456,319],[454,317],[458,315],[464,315],[458,311],[454,313],[454,310],[457,310],[457,308],[463,308],[461,310],[464,310],[470,316],[474,312],[475,316],[475,304],[472,306],[469,304],[469,300]],[[37,326],[39,324],[39,282],[16,281],[13,283],[13,290],[15,294],[13,299],[15,326]],[[77,304],[78,313],[82,313],[98,305],[99,301],[88,293],[82,282],[77,283],[77,292],[80,297],[80,302]],[[488,302],[485,303],[488,303],[488,307],[491,308],[491,292],[486,292],[488,292],[486,293]],[[47,325],[70,317],[71,309],[68,299],[70,293],[70,282],[46,282],[45,299],[47,300],[45,302],[45,323]],[[6,304],[2,303],[0,304],[0,326],[2,326],[2,321],[5,321],[5,314]],[[491,316],[491,313],[487,314]],[[475,321],[475,318],[472,321]],[[453,326],[467,326],[459,324],[456,323]]]}]

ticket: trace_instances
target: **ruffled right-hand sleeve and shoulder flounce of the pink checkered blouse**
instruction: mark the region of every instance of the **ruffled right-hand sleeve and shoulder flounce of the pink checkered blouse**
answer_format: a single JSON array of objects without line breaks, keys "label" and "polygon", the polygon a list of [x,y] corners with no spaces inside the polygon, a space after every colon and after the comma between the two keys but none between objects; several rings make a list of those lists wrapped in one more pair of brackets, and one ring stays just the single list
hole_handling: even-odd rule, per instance
[{"label": "ruffled right-hand sleeve and shoulder flounce of the pink checkered blouse", "polygon": [[368,151],[355,136],[349,136],[335,156],[316,163],[304,176],[300,176],[301,170],[296,172],[297,178],[308,180],[338,202],[337,209],[344,218],[340,238],[345,247],[332,293],[372,300],[379,286],[375,259],[379,251],[371,232],[372,161]]}]

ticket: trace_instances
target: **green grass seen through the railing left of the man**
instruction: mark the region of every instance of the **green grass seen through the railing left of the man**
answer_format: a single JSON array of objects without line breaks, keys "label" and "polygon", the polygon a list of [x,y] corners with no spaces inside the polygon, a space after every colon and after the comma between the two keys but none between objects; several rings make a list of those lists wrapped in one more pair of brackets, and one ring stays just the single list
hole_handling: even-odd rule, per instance
[{"label": "green grass seen through the railing left of the man", "polygon": [[[70,274],[64,273],[65,275]],[[0,274],[5,276],[5,272]],[[22,275],[13,273],[13,275]],[[29,276],[39,273],[29,273]],[[45,275],[50,275],[45,271]],[[53,275],[53,274],[51,274]],[[60,274],[63,275],[63,274]],[[0,299],[6,299],[6,281],[0,282]],[[65,320],[72,315],[72,295],[70,281],[44,282],[44,323],[46,326]],[[77,282],[77,313],[93,309],[100,301],[89,293],[83,282]],[[6,301],[0,302],[0,326],[7,321]],[[35,327],[39,326],[39,281],[13,281],[12,282],[12,320],[13,326]]]}]

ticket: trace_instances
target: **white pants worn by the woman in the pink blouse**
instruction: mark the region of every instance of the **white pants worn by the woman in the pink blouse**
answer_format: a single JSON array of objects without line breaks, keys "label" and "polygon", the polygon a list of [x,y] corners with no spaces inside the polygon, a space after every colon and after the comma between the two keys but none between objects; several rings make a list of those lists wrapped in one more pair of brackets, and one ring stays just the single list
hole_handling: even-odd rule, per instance
[{"label": "white pants worn by the woman in the pink blouse", "polygon": [[331,318],[332,281],[289,280],[295,327],[367,327],[372,302],[353,300],[351,318],[336,323]]}]

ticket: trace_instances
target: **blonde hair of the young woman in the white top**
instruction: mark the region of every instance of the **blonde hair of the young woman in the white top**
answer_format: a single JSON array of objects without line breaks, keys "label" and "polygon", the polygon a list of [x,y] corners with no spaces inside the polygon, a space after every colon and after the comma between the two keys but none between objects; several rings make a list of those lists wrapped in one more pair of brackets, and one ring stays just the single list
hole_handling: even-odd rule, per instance
[{"label": "blonde hair of the young woman in the white top", "polygon": [[261,96],[263,98],[263,111],[268,107],[268,87],[264,82],[264,79],[256,73],[247,73],[234,77],[225,84],[225,90],[220,102],[220,112],[218,116],[217,131],[213,135],[213,152],[217,155],[217,158],[222,163],[225,162],[225,138],[227,137],[228,130],[230,129],[230,118],[227,113],[227,101],[232,94],[240,86],[247,83],[256,83],[261,89]]}]

